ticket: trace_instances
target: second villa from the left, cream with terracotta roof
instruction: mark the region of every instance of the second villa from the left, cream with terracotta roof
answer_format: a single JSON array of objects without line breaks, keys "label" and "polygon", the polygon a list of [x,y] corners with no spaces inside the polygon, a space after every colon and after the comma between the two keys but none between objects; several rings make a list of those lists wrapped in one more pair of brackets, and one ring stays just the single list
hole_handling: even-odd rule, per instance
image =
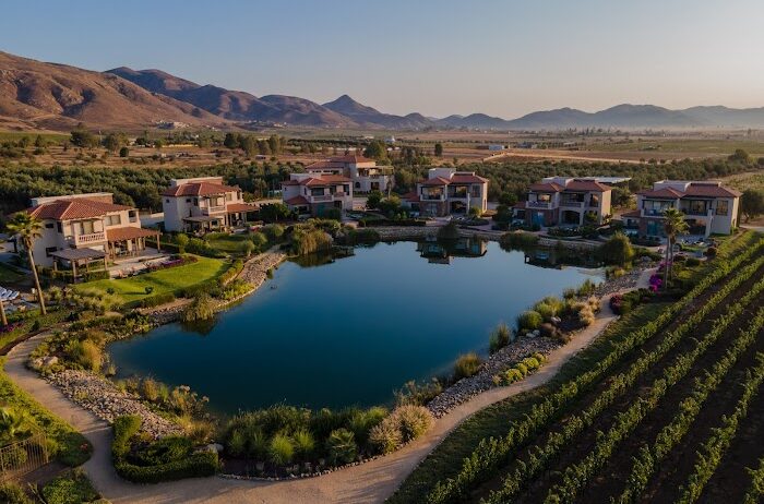
[{"label": "second villa from the left, cream with terracotta roof", "polygon": [[248,221],[255,205],[244,203],[238,187],[223,177],[172,179],[162,193],[166,231],[214,231]]}]

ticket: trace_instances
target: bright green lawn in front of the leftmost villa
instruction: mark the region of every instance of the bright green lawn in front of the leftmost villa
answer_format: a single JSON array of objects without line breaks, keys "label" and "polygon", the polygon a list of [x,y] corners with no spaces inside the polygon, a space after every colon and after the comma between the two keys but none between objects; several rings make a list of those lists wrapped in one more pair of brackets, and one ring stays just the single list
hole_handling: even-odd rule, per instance
[{"label": "bright green lawn in front of the leftmost villa", "polygon": [[[140,301],[148,296],[165,292],[177,292],[180,289],[201,284],[205,280],[217,278],[228,269],[228,264],[219,259],[196,257],[193,264],[160,269],[154,273],[133,276],[130,278],[88,281],[75,287],[77,290],[97,290],[103,293],[112,288],[115,296],[122,303]],[[146,293],[146,287],[153,287],[151,295]]]}]

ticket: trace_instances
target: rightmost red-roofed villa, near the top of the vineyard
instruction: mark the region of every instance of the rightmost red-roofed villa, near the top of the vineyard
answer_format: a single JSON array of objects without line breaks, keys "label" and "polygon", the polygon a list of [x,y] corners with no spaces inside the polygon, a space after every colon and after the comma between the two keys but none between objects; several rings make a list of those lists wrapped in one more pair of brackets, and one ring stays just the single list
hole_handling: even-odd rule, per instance
[{"label": "rightmost red-roofed villa, near the top of the vineyard", "polygon": [[729,235],[738,223],[740,193],[718,181],[661,180],[653,189],[636,193],[636,209],[623,214],[626,231],[664,237],[664,212],[677,208],[684,214],[690,235]]}]

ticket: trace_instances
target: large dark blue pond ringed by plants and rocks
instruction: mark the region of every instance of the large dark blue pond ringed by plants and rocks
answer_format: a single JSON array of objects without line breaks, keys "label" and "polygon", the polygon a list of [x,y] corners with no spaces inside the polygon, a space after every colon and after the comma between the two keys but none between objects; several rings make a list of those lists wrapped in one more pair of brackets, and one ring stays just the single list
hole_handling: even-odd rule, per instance
[{"label": "large dark blue pond ringed by plants and rocks", "polygon": [[600,269],[538,267],[494,242],[396,242],[334,262],[286,262],[203,329],[169,324],[109,346],[118,376],[189,385],[213,410],[286,403],[341,408],[390,403],[408,380],[487,353],[498,323]]}]

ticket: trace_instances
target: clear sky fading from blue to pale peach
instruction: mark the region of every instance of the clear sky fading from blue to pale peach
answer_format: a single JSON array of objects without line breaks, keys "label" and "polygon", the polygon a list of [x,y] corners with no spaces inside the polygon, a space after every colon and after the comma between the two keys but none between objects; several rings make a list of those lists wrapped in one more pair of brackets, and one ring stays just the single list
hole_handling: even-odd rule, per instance
[{"label": "clear sky fading from blue to pale peach", "polygon": [[0,50],[381,111],[764,106],[762,0],[11,0]]}]

